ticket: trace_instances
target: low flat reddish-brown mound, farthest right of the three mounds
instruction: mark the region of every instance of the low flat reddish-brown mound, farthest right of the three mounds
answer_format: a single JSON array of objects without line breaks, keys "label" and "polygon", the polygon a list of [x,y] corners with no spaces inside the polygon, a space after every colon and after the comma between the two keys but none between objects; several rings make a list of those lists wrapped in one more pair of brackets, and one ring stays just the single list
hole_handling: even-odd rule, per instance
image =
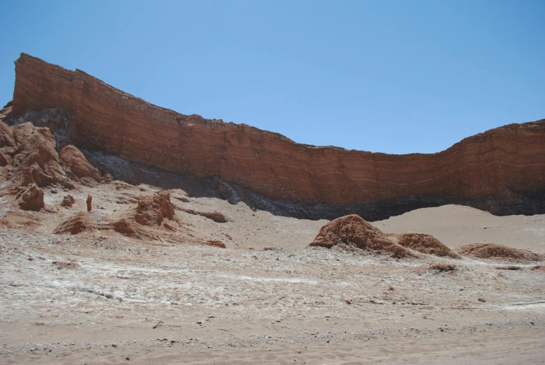
[{"label": "low flat reddish-brown mound, farthest right of the three mounds", "polygon": [[456,249],[463,256],[470,258],[482,259],[501,259],[501,260],[517,260],[517,261],[539,261],[542,258],[528,250],[511,248],[500,244],[487,244],[477,242],[475,244],[465,244]]}]

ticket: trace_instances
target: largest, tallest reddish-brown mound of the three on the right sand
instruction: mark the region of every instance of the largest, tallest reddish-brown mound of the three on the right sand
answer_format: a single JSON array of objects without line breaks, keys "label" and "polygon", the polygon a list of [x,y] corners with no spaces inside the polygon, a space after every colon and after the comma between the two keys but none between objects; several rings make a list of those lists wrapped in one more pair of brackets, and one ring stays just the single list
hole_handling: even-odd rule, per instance
[{"label": "largest, tallest reddish-brown mound of the three on the right sand", "polygon": [[324,225],[309,246],[331,248],[338,244],[356,246],[375,253],[384,251],[396,258],[412,256],[403,246],[391,241],[381,230],[355,214],[336,218]]}]

